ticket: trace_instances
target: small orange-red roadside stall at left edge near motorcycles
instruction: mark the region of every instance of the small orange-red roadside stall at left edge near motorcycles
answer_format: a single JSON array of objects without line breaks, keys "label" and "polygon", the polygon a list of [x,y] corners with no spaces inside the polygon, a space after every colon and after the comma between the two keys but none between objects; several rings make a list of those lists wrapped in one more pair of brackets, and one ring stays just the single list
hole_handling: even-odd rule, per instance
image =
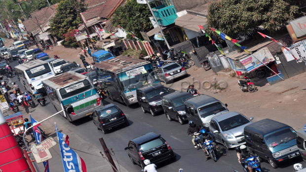
[{"label": "small orange-red roadside stall at left edge near motorcycles", "polygon": [[4,117],[9,128],[14,135],[20,135],[24,132],[23,130],[23,115],[21,112],[17,112]]}]

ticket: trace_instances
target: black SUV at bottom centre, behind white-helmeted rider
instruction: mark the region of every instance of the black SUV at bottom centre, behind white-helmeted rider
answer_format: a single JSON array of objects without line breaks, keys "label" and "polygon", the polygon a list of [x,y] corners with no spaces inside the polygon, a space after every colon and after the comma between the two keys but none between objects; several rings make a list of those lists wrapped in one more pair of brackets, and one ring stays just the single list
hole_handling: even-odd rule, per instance
[{"label": "black SUV at bottom centre, behind white-helmeted rider", "polygon": [[152,164],[161,163],[167,160],[176,160],[176,155],[167,141],[155,133],[147,133],[129,141],[128,156],[133,164],[145,168],[144,160],[148,159]]}]

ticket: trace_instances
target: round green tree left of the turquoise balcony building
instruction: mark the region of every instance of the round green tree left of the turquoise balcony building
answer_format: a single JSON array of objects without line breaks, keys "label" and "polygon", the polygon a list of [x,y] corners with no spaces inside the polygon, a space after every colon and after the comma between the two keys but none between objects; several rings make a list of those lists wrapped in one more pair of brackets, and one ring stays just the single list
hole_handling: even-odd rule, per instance
[{"label": "round green tree left of the turquoise balcony building", "polygon": [[148,32],[153,28],[150,21],[152,14],[147,4],[129,0],[125,5],[118,7],[111,18],[113,26],[119,25],[126,31],[141,38],[140,31]]}]

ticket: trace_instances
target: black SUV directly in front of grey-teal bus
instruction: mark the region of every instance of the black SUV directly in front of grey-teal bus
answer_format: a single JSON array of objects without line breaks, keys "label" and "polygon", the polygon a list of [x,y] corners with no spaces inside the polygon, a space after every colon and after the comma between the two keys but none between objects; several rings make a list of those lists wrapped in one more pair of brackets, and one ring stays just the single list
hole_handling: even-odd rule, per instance
[{"label": "black SUV directly in front of grey-teal bus", "polygon": [[137,101],[144,113],[149,111],[153,116],[163,111],[161,98],[174,90],[164,87],[161,84],[147,85],[136,90]]}]

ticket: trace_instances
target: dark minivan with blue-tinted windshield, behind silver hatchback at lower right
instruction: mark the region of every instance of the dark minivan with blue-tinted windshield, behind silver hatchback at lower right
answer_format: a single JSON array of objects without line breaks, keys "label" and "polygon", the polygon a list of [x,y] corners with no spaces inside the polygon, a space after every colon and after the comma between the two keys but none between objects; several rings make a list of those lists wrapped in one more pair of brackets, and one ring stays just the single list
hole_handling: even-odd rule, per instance
[{"label": "dark minivan with blue-tinted windshield, behind silver hatchback at lower right", "polygon": [[300,157],[296,131],[290,126],[263,119],[244,127],[246,145],[253,155],[268,160],[272,168],[294,157]]}]

